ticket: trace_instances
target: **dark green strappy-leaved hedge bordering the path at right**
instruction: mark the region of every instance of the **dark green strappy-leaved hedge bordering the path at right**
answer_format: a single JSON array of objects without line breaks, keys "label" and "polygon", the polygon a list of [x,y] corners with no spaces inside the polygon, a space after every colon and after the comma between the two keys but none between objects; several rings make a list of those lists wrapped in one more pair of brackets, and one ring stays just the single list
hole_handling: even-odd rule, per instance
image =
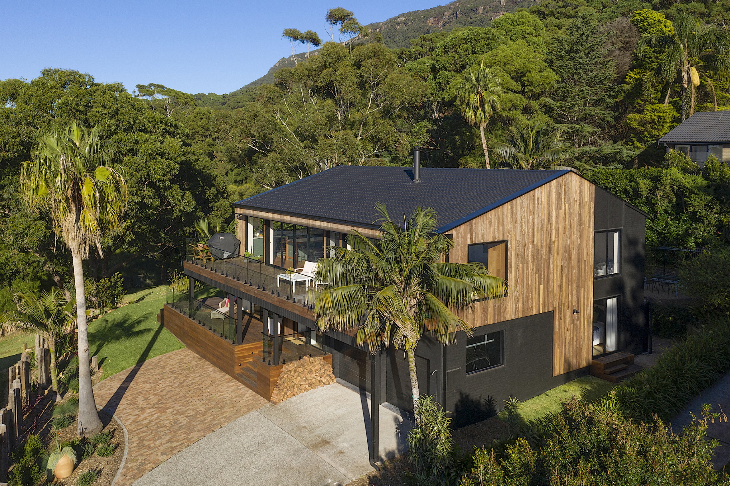
[{"label": "dark green strappy-leaved hedge bordering the path at right", "polygon": [[629,417],[671,420],[730,369],[730,317],[715,319],[661,355],[656,364],[611,390]]}]

